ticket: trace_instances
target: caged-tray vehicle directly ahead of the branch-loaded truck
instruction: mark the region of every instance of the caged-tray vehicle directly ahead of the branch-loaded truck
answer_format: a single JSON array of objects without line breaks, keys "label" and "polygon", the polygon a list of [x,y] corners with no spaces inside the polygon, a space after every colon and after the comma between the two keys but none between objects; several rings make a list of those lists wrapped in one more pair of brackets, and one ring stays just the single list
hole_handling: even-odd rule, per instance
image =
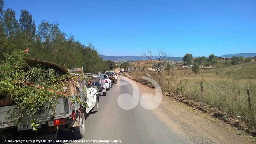
[{"label": "caged-tray vehicle directly ahead of the branch-loaded truck", "polygon": [[102,92],[104,96],[107,95],[107,88],[104,79],[104,74],[101,72],[86,73],[86,79],[90,83],[90,87],[96,88],[98,92]]}]

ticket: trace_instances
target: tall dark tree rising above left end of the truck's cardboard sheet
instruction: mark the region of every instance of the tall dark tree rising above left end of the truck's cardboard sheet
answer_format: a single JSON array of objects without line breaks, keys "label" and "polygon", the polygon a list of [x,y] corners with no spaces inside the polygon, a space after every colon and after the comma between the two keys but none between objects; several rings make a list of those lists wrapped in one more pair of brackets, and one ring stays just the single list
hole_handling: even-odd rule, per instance
[{"label": "tall dark tree rising above left end of the truck's cardboard sheet", "polygon": [[[19,25],[20,25],[20,32],[21,32],[21,39],[22,39],[22,47],[29,48],[31,47],[31,43],[33,43],[33,38],[35,36],[35,21],[32,19],[32,14],[25,10],[21,10],[21,14],[19,17]],[[24,42],[24,44],[23,44]]]}]

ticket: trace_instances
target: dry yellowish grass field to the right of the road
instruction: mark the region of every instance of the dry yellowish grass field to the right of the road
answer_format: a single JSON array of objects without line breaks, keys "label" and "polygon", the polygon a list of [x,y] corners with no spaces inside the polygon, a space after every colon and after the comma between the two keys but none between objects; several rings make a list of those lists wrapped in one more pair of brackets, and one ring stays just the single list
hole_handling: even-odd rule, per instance
[{"label": "dry yellowish grass field to the right of the road", "polygon": [[[224,113],[236,118],[245,117],[244,121],[249,127],[246,131],[256,132],[256,62],[234,65],[229,67],[215,67],[200,69],[200,74],[195,77],[191,69],[172,70],[161,73],[144,71],[133,72],[130,75],[142,83],[141,79],[149,73],[156,80],[163,91],[176,92],[196,102],[202,102],[211,108],[218,108]],[[201,91],[200,82],[203,84]],[[182,86],[182,91],[181,91]],[[251,99],[252,111],[249,110],[247,89]]]}]

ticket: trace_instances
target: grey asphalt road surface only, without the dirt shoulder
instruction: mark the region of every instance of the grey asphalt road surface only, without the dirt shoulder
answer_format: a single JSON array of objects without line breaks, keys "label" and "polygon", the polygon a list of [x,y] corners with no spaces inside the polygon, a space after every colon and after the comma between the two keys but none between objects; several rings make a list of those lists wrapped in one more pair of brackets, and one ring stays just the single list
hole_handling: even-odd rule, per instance
[{"label": "grey asphalt road surface only, without the dirt shoulder", "polygon": [[[154,110],[144,109],[140,103],[130,110],[118,105],[118,97],[123,93],[133,95],[132,82],[124,86],[112,85],[107,95],[99,98],[99,111],[90,113],[86,119],[86,135],[75,139],[71,132],[59,132],[57,140],[67,143],[123,143],[123,144],[171,144],[193,143],[184,133],[170,127],[161,120]],[[64,142],[66,143],[66,142]]]}]

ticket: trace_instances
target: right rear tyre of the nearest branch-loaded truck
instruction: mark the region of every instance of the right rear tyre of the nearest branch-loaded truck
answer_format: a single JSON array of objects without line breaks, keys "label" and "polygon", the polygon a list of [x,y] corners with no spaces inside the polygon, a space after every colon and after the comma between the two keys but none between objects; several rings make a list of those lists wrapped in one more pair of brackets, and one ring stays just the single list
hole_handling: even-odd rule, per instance
[{"label": "right rear tyre of the nearest branch-loaded truck", "polygon": [[82,111],[81,117],[80,117],[81,125],[73,128],[73,134],[76,138],[82,138],[85,135],[85,122],[84,121],[85,121],[85,117],[84,117],[84,113]]}]

